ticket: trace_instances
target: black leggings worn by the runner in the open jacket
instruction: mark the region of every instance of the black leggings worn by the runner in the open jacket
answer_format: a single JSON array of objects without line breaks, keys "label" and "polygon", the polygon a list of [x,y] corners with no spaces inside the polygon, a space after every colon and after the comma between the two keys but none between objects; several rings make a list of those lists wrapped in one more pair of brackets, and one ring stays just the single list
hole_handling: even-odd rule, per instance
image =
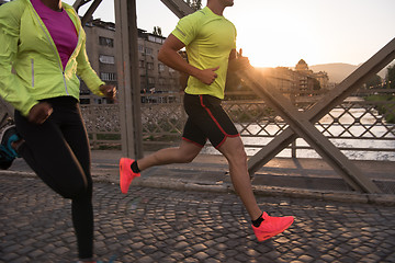
[{"label": "black leggings worn by the runner in the open jacket", "polygon": [[16,129],[25,140],[18,152],[50,188],[71,199],[79,258],[88,259],[93,254],[93,208],[87,132],[76,99],[45,101],[54,112],[42,125],[15,111]]}]

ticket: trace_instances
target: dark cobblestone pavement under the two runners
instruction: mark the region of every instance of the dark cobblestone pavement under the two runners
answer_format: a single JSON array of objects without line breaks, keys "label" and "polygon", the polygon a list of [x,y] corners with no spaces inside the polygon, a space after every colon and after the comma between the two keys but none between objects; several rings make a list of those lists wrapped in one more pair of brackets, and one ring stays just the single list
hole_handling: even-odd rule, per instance
[{"label": "dark cobblestone pavement under the two runners", "polygon": [[[95,254],[104,262],[395,262],[395,208],[258,196],[293,215],[257,242],[234,194],[94,184]],[[70,202],[31,176],[0,176],[0,262],[72,262]]]}]

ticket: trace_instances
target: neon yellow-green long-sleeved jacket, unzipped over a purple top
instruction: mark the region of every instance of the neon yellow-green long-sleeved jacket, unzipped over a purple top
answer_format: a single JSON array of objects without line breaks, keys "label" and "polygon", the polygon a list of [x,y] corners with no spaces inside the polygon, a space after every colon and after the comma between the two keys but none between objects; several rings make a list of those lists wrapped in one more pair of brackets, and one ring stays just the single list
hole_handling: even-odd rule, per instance
[{"label": "neon yellow-green long-sleeved jacket, unzipped over a purple top", "polygon": [[38,100],[71,95],[79,99],[80,82],[98,95],[104,84],[89,64],[86,33],[76,11],[63,3],[78,33],[78,44],[66,68],[48,30],[30,0],[0,7],[0,95],[27,116]]}]

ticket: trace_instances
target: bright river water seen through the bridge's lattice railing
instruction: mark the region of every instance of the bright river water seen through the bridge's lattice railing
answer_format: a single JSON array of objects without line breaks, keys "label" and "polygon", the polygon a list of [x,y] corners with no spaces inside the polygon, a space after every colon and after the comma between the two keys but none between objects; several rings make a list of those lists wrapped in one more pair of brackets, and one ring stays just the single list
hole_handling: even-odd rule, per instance
[{"label": "bright river water seen through the bridge's lattice railing", "polygon": [[[338,148],[358,148],[358,150],[341,150],[350,160],[395,161],[395,125],[377,122],[377,118],[381,119],[381,117],[374,110],[351,108],[345,114],[342,108],[335,108],[330,112],[330,115],[327,114],[319,121],[320,125],[316,125],[316,128],[321,133],[326,129],[324,135]],[[337,122],[334,122],[334,118],[337,118]],[[356,118],[359,119],[358,123],[354,123]],[[236,124],[236,127],[238,130],[241,130],[239,124]],[[244,144],[252,146],[246,147],[248,156],[253,156],[273,139],[273,137],[248,137],[249,134],[258,136],[263,134],[275,135],[280,128],[278,125],[270,124],[266,127],[266,132],[260,130],[261,127],[259,125],[249,125],[248,132],[241,133]],[[330,138],[330,136],[340,136],[340,138]],[[298,138],[296,139],[296,146],[308,147],[308,144],[304,139]],[[221,155],[211,146],[205,147],[203,152]],[[291,149],[282,150],[276,157],[291,158]],[[296,157],[320,158],[314,149],[298,149],[296,150]]]}]

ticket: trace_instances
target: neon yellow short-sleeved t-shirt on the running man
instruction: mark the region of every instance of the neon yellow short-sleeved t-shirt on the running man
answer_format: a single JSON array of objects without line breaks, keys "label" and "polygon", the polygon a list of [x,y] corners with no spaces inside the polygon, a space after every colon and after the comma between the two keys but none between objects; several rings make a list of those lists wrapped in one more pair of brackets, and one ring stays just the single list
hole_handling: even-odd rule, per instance
[{"label": "neon yellow short-sleeved t-shirt on the running man", "polygon": [[215,71],[218,77],[211,85],[191,76],[185,93],[208,94],[224,99],[229,54],[236,48],[235,25],[205,7],[182,18],[171,34],[185,45],[190,65],[199,69],[219,66]]}]

